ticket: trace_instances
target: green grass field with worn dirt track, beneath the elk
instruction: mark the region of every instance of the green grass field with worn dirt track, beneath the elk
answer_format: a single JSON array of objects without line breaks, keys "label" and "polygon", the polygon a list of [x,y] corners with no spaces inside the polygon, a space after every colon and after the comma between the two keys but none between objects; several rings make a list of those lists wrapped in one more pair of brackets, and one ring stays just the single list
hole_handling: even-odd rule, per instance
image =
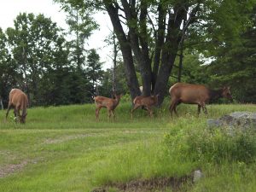
[{"label": "green grass field with worn dirt track, beneath the elk", "polygon": [[255,105],[209,105],[209,117],[200,118],[196,106],[179,106],[179,118],[171,118],[167,108],[167,103],[155,108],[154,119],[138,109],[130,119],[131,104],[121,102],[115,120],[108,121],[102,109],[99,122],[92,104],[29,108],[26,125],[16,124],[13,113],[5,122],[5,111],[0,111],[0,191],[91,191],[106,186],[119,191],[116,186],[124,183],[180,178],[198,168],[205,177],[183,183],[182,191],[256,191],[253,153],[249,162],[225,157],[215,162],[208,158],[213,152],[195,160],[188,153],[193,143],[183,144],[204,133],[207,118],[256,112]]}]

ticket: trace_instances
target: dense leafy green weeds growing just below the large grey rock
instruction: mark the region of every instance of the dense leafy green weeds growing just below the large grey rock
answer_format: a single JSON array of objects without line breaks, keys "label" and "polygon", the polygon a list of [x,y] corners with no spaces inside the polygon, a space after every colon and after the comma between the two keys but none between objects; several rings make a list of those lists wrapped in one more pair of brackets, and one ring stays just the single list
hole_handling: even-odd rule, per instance
[{"label": "dense leafy green weeds growing just below the large grey rock", "polygon": [[250,163],[256,157],[255,135],[253,131],[239,130],[230,135],[227,129],[176,129],[166,135],[166,143],[172,154],[177,150],[183,158],[197,162]]}]

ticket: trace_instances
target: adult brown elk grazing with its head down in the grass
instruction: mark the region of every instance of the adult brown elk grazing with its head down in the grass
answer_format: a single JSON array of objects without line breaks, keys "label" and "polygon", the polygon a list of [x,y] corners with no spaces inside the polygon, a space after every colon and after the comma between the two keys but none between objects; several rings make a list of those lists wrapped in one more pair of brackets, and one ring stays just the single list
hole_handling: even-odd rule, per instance
[{"label": "adult brown elk grazing with its head down in the grass", "polygon": [[[6,119],[8,117],[9,109],[11,107],[15,108],[15,120],[17,116],[20,119],[20,123],[24,124],[26,121],[26,108],[28,106],[28,100],[26,94],[19,89],[12,89],[9,92],[9,104],[8,104],[8,109],[6,113]],[[22,113],[20,115],[20,110],[22,110]]]}]

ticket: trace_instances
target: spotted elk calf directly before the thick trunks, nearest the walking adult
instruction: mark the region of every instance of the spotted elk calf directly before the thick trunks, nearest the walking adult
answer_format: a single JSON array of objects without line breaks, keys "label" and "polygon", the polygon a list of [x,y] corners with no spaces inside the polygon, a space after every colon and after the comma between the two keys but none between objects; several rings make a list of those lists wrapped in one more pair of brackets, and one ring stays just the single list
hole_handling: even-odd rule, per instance
[{"label": "spotted elk calf directly before the thick trunks, nearest the walking adult", "polygon": [[156,96],[137,96],[133,100],[133,108],[131,110],[131,119],[133,116],[133,112],[139,108],[139,107],[145,107],[148,110],[149,116],[152,118],[153,117],[153,111],[151,107],[155,105],[158,102],[158,95]]}]

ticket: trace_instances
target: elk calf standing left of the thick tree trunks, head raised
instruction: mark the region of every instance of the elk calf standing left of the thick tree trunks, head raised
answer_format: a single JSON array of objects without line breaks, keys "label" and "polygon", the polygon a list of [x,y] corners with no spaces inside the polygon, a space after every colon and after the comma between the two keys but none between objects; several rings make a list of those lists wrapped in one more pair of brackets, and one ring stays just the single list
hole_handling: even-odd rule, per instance
[{"label": "elk calf standing left of the thick tree trunks, head raised", "polygon": [[94,97],[96,103],[96,119],[99,119],[99,113],[101,108],[108,109],[108,120],[110,120],[110,115],[112,114],[114,119],[114,109],[119,105],[119,101],[122,95],[114,95],[115,98],[108,98],[105,96]]}]

